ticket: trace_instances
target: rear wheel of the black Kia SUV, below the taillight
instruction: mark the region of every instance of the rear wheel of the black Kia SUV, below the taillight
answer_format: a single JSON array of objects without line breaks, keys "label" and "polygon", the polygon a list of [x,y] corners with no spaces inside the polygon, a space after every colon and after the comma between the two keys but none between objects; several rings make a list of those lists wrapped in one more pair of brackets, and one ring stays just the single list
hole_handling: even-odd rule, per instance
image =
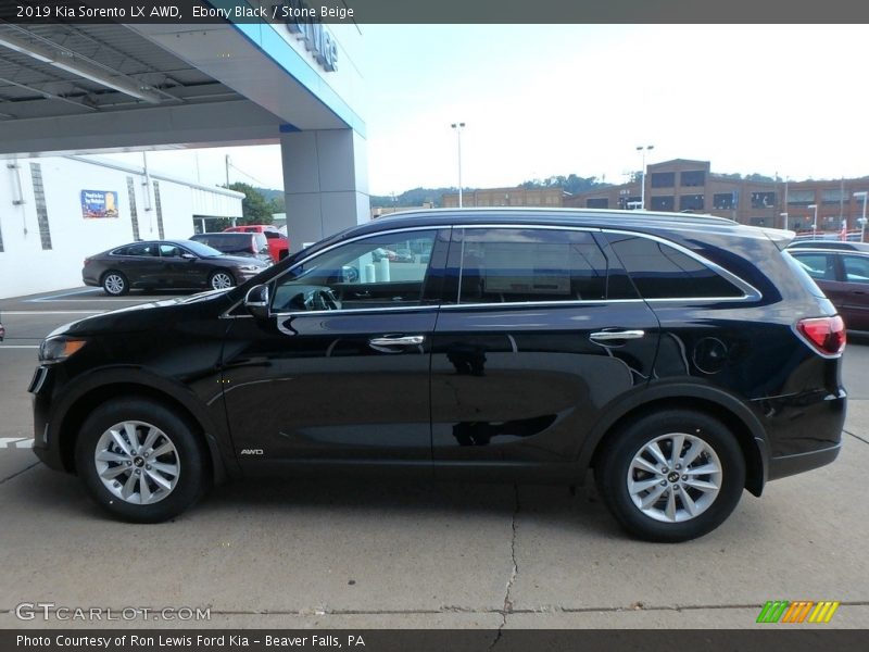
[{"label": "rear wheel of the black Kia SUV, below the taillight", "polygon": [[[673,460],[679,442],[681,454]],[[745,486],[745,459],[735,436],[717,419],[664,410],[614,432],[594,475],[601,498],[628,532],[675,543],[727,519]]]}]

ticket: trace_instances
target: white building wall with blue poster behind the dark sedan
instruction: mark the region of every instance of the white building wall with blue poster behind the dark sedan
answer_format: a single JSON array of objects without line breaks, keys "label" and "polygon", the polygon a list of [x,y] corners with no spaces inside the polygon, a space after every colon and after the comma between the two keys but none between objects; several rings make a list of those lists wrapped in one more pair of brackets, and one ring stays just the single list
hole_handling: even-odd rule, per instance
[{"label": "white building wall with blue poster behind the dark sedan", "polygon": [[[146,186],[141,168],[65,156],[18,159],[17,168],[8,166],[12,163],[7,161],[0,167],[0,299],[80,287],[85,258],[131,242],[128,177],[134,181],[143,240],[160,238],[154,181],[160,189],[164,238],[190,237],[193,215],[241,216],[241,193],[197,187],[154,173],[151,185]],[[42,172],[51,249],[42,248],[30,163]],[[85,218],[81,190],[116,192],[117,217]],[[21,200],[23,203],[17,203]]]}]

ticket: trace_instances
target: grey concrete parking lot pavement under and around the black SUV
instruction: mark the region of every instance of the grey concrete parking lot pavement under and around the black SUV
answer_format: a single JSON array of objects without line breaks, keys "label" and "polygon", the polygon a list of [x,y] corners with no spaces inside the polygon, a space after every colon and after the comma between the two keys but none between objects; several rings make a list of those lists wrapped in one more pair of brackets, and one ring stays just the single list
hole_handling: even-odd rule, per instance
[{"label": "grey concrete parking lot pavement under and around the black SUV", "polygon": [[118,524],[36,462],[26,387],[58,325],[168,296],[0,300],[0,627],[129,625],[15,615],[49,602],[210,609],[135,620],[160,627],[742,628],[768,600],[840,601],[811,627],[869,627],[866,343],[845,353],[839,460],[688,543],[628,539],[590,489],[377,480],[227,485],[174,522]]}]

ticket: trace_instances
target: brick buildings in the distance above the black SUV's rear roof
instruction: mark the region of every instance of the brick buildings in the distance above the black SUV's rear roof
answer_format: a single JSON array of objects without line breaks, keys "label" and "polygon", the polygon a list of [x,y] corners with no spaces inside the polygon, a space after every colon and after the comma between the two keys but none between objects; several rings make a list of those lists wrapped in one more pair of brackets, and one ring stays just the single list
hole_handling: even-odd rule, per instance
[{"label": "brick buildings in the distance above the black SUV's rear roof", "polygon": [[[708,161],[676,159],[648,165],[645,208],[651,211],[705,213],[742,224],[811,230],[817,205],[819,231],[859,229],[862,198],[869,177],[810,181],[752,181],[714,174]],[[568,197],[565,206],[588,209],[639,209],[640,181],[597,188]]]}]

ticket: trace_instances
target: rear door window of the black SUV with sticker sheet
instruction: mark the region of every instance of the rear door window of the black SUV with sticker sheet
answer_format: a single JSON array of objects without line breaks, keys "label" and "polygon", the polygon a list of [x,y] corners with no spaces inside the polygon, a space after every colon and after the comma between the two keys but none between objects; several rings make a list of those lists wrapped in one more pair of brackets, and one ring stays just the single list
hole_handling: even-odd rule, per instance
[{"label": "rear door window of the black SUV with sticker sheet", "polygon": [[454,266],[458,303],[600,300],[606,293],[607,261],[584,231],[455,229]]}]

